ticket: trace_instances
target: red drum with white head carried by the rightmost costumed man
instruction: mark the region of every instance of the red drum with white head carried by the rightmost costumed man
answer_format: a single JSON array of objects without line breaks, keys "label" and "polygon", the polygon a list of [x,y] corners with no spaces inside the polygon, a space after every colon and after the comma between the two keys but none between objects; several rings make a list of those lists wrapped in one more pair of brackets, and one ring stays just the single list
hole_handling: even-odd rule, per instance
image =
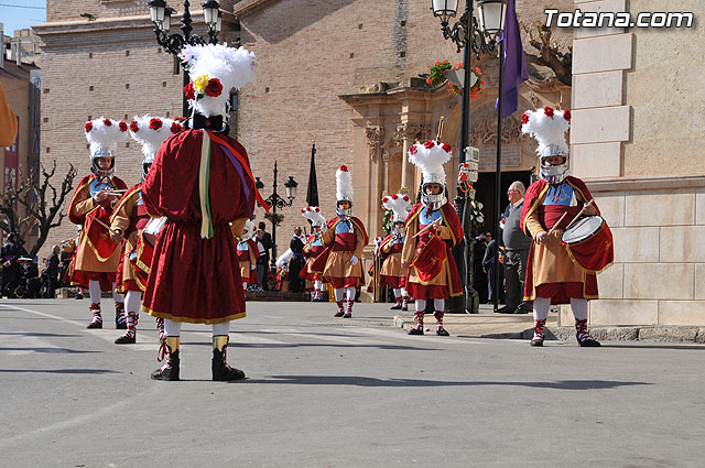
[{"label": "red drum with white head carried by the rightmost costumed man", "polygon": [[578,219],[561,240],[573,263],[586,273],[599,273],[615,260],[612,232],[600,216]]}]

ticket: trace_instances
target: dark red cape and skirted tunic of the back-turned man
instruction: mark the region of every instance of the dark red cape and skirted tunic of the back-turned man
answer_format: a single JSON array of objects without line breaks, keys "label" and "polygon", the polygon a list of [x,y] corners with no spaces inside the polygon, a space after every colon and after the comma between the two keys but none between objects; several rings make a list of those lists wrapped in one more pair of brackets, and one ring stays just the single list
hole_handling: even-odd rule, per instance
[{"label": "dark red cape and skirted tunic of the back-turned man", "polygon": [[[240,143],[225,134],[218,137],[249,164]],[[245,317],[245,292],[229,222],[251,215],[254,183],[246,171],[241,176],[225,151],[212,141],[208,184],[214,236],[202,239],[202,130],[171,137],[160,148],[142,184],[142,199],[150,215],[167,218],[154,246],[142,311],[175,322],[217,324]]]}]

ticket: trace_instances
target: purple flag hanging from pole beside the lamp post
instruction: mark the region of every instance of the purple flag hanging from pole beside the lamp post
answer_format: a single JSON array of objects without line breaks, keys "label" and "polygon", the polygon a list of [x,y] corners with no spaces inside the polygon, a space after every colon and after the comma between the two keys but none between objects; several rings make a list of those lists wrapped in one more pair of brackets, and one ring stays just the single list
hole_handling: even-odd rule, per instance
[{"label": "purple flag hanging from pole beside the lamp post", "polygon": [[505,41],[505,68],[502,70],[502,119],[505,119],[519,107],[519,85],[529,78],[514,0],[507,2],[505,31],[499,40]]}]

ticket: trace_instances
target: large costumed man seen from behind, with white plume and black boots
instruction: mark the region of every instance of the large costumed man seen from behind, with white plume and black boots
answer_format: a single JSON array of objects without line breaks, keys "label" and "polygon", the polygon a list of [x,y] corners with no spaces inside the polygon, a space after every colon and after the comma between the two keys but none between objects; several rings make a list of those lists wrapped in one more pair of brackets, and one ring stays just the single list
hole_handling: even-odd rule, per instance
[{"label": "large costumed man seen from behind, with white plume and black boots", "polygon": [[165,364],[155,380],[180,379],[182,323],[213,325],[212,377],[243,379],[226,361],[231,320],[243,318],[245,292],[232,232],[253,218],[254,186],[245,148],[228,137],[230,89],[254,78],[254,55],[221,44],[187,45],[181,59],[193,80],[184,88],[191,128],[162,144],[142,184],[147,211],[165,217],[154,246],[142,311],[164,318]]}]

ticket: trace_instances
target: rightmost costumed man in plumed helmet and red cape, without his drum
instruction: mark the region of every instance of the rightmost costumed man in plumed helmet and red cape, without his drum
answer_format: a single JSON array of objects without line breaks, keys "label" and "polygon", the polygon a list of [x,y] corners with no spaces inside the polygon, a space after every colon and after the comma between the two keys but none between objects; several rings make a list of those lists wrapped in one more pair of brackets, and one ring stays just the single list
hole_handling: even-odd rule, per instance
[{"label": "rightmost costumed man in plumed helmet and red cape, without his drum", "polygon": [[[561,241],[564,229],[593,200],[585,183],[568,175],[565,132],[570,120],[570,110],[550,107],[522,115],[522,132],[539,141],[536,151],[541,163],[541,178],[527,189],[521,214],[521,229],[533,239],[524,285],[524,301],[533,302],[532,346],[543,346],[551,304],[568,303],[579,345],[599,346],[587,330],[587,300],[598,298],[596,274],[576,264]],[[555,156],[561,157],[562,163],[546,162]],[[594,208],[599,214],[598,208]],[[540,238],[541,243],[536,241]]]}]

